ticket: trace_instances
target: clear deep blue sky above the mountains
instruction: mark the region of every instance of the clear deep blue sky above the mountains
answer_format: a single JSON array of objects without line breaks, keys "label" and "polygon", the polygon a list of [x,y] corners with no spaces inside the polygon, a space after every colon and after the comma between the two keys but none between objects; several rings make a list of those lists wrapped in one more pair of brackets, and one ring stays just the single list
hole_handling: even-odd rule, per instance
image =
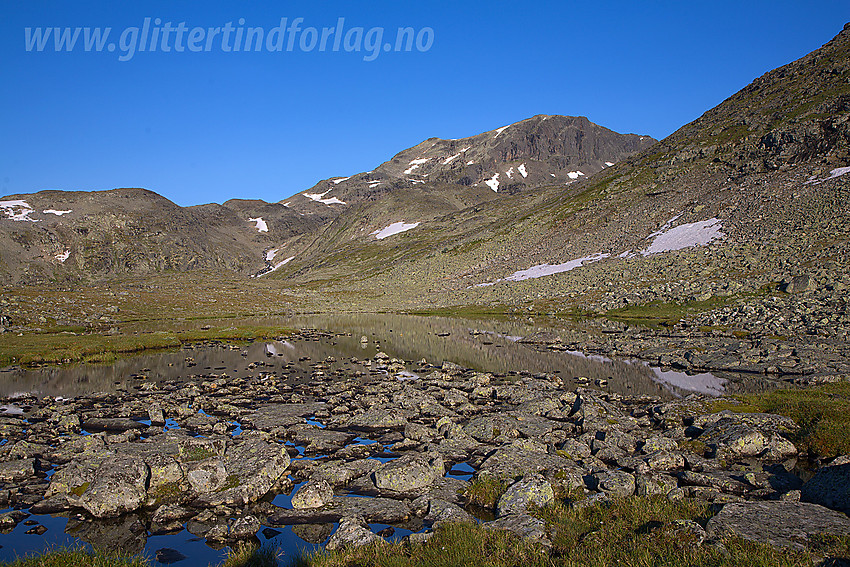
[{"label": "clear deep blue sky above the mountains", "polygon": [[[158,51],[130,53],[146,18],[149,33],[185,22],[183,52],[171,32],[170,52],[160,36]],[[303,18],[316,39],[344,18],[346,33],[363,28],[361,51],[333,51],[332,36],[324,51],[309,49],[303,31],[290,34],[292,51],[233,51],[238,28],[243,43],[249,27],[268,39],[281,18]],[[3,0],[0,195],[145,187],[181,205],[278,201],[425,138],[535,114],[662,138],[847,21],[846,0]],[[187,48],[192,28],[228,22],[226,45],[219,32],[206,51],[207,31],[200,51]],[[65,26],[111,27],[115,50],[86,52],[81,36],[73,51],[56,52],[48,36],[43,51],[27,51],[25,28],[32,38],[32,29]],[[399,27],[420,34],[422,49],[366,49],[369,30],[383,28],[382,43],[394,45]],[[357,45],[355,32],[349,39]]]}]

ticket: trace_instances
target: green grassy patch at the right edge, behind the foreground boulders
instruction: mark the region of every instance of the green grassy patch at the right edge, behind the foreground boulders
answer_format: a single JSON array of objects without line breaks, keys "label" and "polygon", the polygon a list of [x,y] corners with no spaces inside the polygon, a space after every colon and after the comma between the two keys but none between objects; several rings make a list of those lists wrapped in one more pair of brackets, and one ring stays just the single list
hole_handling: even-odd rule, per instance
[{"label": "green grassy patch at the right edge, behind the foreground boulders", "polygon": [[715,402],[714,411],[766,412],[790,417],[800,426],[792,436],[798,449],[820,457],[850,453],[850,383],[736,396],[740,404]]}]

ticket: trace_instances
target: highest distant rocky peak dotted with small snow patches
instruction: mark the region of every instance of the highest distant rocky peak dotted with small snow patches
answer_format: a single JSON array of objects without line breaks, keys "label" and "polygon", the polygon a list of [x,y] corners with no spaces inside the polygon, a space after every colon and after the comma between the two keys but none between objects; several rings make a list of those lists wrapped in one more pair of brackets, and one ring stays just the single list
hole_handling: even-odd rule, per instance
[{"label": "highest distant rocky peak dotted with small snow patches", "polygon": [[492,193],[514,194],[593,175],[655,143],[649,136],[618,134],[587,118],[538,115],[470,138],[428,138],[372,171],[317,183],[285,202],[302,211],[332,211],[422,185],[477,189],[473,202]]}]

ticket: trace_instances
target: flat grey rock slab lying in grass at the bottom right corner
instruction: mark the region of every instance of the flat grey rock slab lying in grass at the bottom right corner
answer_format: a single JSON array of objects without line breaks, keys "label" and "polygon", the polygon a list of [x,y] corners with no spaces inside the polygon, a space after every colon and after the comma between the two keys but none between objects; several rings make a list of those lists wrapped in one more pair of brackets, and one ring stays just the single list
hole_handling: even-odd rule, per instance
[{"label": "flat grey rock slab lying in grass at the bottom right corner", "polygon": [[817,534],[847,535],[850,518],[803,502],[741,502],[726,504],[709,520],[711,537],[739,536],[775,547],[803,550]]}]

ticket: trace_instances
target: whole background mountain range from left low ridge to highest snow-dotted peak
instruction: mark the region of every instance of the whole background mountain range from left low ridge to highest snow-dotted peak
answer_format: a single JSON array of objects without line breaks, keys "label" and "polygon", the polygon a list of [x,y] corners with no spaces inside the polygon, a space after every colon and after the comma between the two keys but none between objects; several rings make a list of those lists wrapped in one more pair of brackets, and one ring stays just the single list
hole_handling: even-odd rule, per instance
[{"label": "whole background mountain range from left low ridge to highest snow-dotted peak", "polygon": [[279,203],[231,199],[182,208],[142,189],[11,195],[0,199],[0,281],[194,269],[264,276],[364,204],[380,201],[383,208],[361,219],[367,228],[394,210],[445,214],[572,182],[653,142],[586,118],[537,116],[463,140],[431,138],[372,172],[323,181]]}]

